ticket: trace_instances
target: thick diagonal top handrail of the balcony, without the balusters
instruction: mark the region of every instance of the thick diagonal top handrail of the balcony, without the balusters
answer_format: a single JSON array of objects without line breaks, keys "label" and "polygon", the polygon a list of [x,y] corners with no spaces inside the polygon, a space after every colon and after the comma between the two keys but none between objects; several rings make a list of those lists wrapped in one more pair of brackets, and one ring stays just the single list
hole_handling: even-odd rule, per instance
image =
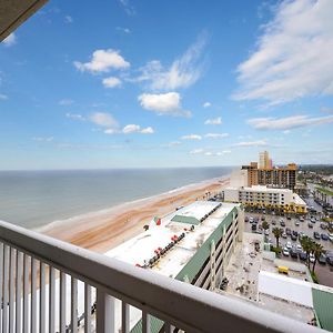
[{"label": "thick diagonal top handrail of the balcony, without the balusters", "polygon": [[325,332],[3,221],[0,242],[188,332]]}]

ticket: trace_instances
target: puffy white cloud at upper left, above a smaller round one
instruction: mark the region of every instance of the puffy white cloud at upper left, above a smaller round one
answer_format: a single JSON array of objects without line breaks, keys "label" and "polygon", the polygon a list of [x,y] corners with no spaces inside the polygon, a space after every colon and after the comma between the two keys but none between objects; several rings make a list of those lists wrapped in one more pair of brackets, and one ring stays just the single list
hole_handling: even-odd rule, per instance
[{"label": "puffy white cloud at upper left, above a smaller round one", "polygon": [[74,61],[74,67],[82,72],[109,72],[111,69],[127,69],[130,67],[130,63],[125,61],[120,52],[117,50],[108,49],[108,50],[95,50],[92,53],[92,58],[90,62],[80,62]]}]

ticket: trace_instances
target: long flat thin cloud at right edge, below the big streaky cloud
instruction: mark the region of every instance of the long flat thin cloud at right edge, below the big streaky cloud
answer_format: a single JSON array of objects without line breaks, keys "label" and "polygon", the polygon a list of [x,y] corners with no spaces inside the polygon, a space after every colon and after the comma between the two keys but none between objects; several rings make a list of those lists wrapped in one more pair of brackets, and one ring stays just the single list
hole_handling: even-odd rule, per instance
[{"label": "long flat thin cloud at right edge, below the big streaky cloud", "polygon": [[289,130],[332,122],[333,115],[315,118],[292,115],[286,118],[252,118],[248,120],[248,123],[256,130]]}]

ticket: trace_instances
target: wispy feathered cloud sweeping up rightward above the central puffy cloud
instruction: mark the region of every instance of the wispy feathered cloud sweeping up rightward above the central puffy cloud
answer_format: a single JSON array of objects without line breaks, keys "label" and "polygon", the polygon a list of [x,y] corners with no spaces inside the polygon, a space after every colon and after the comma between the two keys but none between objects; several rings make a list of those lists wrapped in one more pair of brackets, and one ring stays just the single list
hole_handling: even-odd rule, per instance
[{"label": "wispy feathered cloud sweeping up rightward above the central puffy cloud", "polygon": [[169,68],[164,68],[159,60],[152,60],[140,69],[141,75],[134,81],[148,81],[152,90],[173,90],[194,84],[203,72],[201,58],[204,46],[205,38],[200,36]]}]

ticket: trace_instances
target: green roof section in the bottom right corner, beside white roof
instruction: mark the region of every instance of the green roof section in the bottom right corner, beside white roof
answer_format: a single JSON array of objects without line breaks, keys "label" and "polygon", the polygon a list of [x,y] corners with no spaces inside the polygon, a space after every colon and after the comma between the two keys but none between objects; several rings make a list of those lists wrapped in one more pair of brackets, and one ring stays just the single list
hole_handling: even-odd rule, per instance
[{"label": "green roof section in the bottom right corner, beside white roof", "polygon": [[320,321],[320,326],[333,332],[333,293],[312,289],[313,307]]}]

